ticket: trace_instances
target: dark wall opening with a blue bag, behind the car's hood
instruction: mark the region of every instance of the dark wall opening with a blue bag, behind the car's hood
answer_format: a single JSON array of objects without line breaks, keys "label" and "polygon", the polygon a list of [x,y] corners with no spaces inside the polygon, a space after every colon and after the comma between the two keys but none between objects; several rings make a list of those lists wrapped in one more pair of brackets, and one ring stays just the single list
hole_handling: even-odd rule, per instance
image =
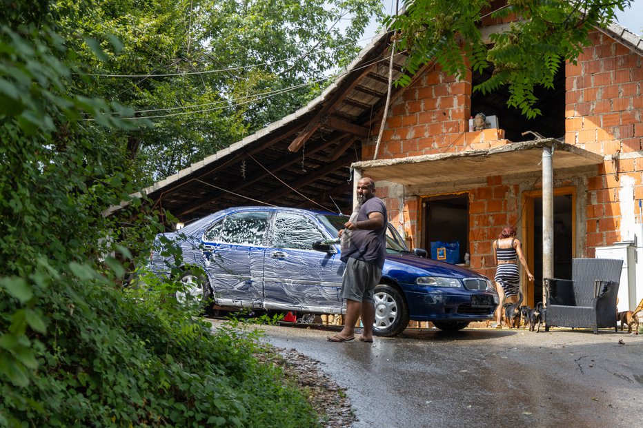
[{"label": "dark wall opening with a blue bag, behind the car's hood", "polygon": [[[468,194],[449,194],[422,199],[424,230],[422,242],[430,258],[448,263],[465,263],[469,247],[469,198]],[[446,259],[436,256],[433,247],[437,242],[447,243]],[[456,249],[457,248],[457,249]]]}]

